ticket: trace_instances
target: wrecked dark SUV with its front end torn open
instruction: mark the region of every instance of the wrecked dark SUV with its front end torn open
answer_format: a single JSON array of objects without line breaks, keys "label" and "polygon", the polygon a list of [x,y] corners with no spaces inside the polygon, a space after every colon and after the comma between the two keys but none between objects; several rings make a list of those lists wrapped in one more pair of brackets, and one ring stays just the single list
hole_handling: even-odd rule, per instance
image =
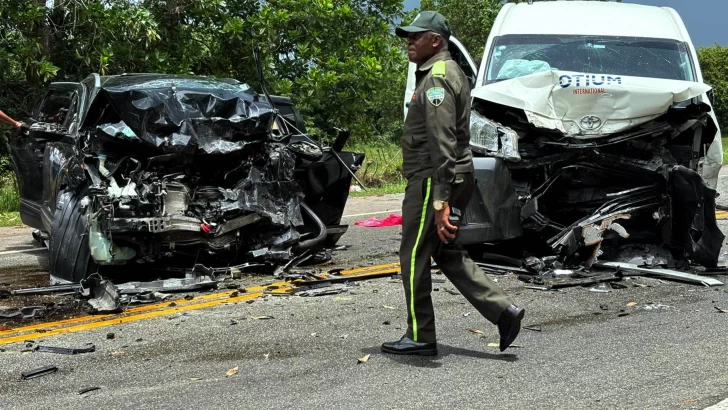
[{"label": "wrecked dark SUV with its front end torn open", "polygon": [[109,265],[281,266],[335,244],[364,155],[342,152],[345,132],[316,143],[290,99],[266,95],[157,74],[51,84],[9,139],[51,282]]}]

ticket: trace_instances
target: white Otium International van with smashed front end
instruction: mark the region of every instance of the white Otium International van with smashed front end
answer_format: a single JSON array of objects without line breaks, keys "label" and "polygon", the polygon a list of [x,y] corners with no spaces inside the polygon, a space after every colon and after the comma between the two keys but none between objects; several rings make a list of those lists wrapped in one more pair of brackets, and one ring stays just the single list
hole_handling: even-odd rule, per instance
[{"label": "white Otium International van with smashed front end", "polygon": [[720,130],[675,10],[506,4],[480,67],[455,38],[450,51],[473,84],[478,192],[461,243],[516,240],[511,256],[562,264],[633,261],[639,248],[715,266]]}]

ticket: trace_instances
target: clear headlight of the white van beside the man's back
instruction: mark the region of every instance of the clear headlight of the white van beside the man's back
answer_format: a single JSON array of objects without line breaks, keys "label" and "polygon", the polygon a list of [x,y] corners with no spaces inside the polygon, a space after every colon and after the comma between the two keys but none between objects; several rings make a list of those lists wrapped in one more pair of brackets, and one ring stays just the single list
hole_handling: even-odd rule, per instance
[{"label": "clear headlight of the white van beside the man's back", "polygon": [[483,117],[475,110],[470,113],[470,148],[488,157],[521,160],[518,153],[518,134]]}]

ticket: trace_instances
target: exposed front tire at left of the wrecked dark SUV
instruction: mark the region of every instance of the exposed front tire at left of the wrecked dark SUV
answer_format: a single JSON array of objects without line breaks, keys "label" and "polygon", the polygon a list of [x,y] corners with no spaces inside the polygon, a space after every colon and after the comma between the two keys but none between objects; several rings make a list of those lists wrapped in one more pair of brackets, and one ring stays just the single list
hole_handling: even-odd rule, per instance
[{"label": "exposed front tire at left of the wrecked dark SUV", "polygon": [[52,283],[78,283],[98,270],[88,244],[86,209],[80,205],[85,195],[85,189],[58,194],[48,260]]}]

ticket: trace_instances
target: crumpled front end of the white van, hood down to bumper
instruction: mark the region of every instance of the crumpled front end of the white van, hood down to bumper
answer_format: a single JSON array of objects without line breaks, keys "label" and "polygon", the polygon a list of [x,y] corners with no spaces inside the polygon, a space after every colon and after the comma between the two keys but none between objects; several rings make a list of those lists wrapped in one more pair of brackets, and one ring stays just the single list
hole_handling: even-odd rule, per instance
[{"label": "crumpled front end of the white van, hood down to bumper", "polygon": [[558,72],[476,89],[477,190],[460,243],[585,267],[654,245],[671,268],[715,267],[717,193],[698,173],[717,131],[697,98],[707,87],[633,80],[596,96],[559,86]]}]

